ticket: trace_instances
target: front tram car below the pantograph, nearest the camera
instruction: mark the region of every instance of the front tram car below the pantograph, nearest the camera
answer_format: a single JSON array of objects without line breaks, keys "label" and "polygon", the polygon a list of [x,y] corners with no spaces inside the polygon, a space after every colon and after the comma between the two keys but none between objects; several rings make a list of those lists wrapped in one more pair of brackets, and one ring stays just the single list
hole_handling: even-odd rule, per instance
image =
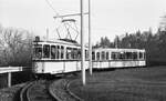
[{"label": "front tram car below the pantograph, nearest the camera", "polygon": [[[85,48],[87,60],[87,48]],[[68,73],[81,70],[81,46],[64,40],[33,42],[33,72],[37,75]],[[89,62],[85,61],[85,69]]]}]

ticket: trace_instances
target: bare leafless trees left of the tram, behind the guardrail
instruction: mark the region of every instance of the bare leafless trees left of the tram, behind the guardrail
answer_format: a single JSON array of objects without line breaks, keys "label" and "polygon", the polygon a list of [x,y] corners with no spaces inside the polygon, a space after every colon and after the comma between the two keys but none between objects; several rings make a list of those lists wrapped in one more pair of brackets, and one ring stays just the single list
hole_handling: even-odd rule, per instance
[{"label": "bare leafless trees left of the tram, behind the guardrail", "polygon": [[1,65],[28,65],[32,55],[32,33],[0,27]]}]

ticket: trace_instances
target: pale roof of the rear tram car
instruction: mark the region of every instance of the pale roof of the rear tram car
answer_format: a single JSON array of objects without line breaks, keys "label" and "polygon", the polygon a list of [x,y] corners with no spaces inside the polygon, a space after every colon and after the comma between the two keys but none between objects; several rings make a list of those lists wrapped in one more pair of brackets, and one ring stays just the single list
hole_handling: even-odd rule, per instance
[{"label": "pale roof of the rear tram car", "polygon": [[129,51],[129,52],[134,52],[134,51],[141,51],[141,52],[145,52],[145,49],[118,49],[118,48],[96,48],[93,50],[98,50],[98,51]]}]

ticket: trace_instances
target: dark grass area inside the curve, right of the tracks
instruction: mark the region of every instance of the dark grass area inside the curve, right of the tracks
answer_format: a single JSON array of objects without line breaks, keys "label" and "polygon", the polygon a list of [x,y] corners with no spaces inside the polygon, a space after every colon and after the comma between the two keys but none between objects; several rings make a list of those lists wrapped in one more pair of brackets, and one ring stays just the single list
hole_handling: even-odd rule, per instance
[{"label": "dark grass area inside the curve, right of the tracks", "polygon": [[166,67],[94,72],[70,90],[85,101],[166,101]]}]

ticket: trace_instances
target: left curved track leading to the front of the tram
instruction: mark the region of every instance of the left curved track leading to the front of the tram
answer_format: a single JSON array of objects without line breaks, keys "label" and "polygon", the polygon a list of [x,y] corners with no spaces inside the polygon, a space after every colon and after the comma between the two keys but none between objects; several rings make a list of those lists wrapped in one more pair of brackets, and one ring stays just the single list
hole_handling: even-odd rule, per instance
[{"label": "left curved track leading to the front of the tram", "polygon": [[49,93],[51,81],[39,80],[27,84],[20,92],[20,101],[56,101]]}]

